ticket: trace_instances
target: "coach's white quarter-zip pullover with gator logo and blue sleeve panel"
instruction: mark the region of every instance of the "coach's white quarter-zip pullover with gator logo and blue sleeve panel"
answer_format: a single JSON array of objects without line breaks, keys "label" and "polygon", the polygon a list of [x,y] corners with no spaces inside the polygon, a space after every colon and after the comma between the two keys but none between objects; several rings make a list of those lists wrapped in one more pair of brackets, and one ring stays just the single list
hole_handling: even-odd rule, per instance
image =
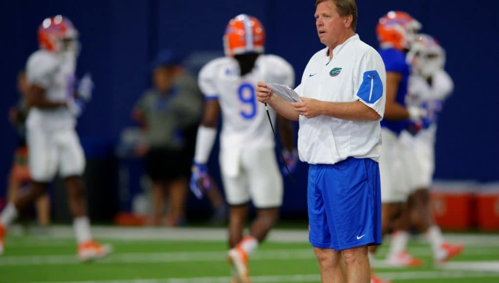
[{"label": "coach's white quarter-zip pullover with gator logo and blue sleeve panel", "polygon": [[[380,115],[385,112],[386,71],[379,53],[356,34],[333,49],[315,53],[295,91],[302,97],[327,102],[361,101]],[[379,121],[348,121],[325,115],[300,115],[298,154],[310,164],[334,164],[348,157],[378,161]]]}]

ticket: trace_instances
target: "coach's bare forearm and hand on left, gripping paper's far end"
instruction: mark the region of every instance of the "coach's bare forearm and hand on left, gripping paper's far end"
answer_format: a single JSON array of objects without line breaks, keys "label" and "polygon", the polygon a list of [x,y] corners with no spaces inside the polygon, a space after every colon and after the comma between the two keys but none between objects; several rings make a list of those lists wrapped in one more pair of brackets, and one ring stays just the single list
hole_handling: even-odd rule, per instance
[{"label": "coach's bare forearm and hand on left, gripping paper's far end", "polygon": [[264,82],[258,82],[258,86],[256,87],[256,99],[261,103],[270,105],[275,112],[288,120],[299,120],[300,113],[294,109],[291,103],[274,94],[267,88],[267,84]]}]

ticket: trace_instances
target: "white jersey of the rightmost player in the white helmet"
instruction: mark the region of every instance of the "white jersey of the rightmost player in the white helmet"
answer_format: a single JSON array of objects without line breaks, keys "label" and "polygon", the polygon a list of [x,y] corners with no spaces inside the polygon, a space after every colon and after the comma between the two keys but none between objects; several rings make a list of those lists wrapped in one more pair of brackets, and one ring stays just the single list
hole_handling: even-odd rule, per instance
[{"label": "white jersey of the rightmost player in the white helmet", "polygon": [[423,119],[423,129],[416,135],[416,138],[433,146],[437,132],[437,116],[442,110],[443,102],[454,90],[454,83],[444,70],[435,73],[431,80],[432,84],[430,85],[428,80],[422,76],[411,74],[408,81],[406,104],[408,106],[424,106],[429,112],[428,117]]}]

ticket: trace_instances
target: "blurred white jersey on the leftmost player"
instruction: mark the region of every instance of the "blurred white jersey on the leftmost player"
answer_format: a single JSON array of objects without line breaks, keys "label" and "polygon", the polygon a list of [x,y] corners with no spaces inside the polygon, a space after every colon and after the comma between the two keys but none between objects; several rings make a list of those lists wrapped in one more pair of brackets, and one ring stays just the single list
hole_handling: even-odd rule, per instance
[{"label": "blurred white jersey on the leftmost player", "polygon": [[[29,84],[46,90],[45,97],[52,102],[65,102],[73,95],[76,59],[38,50],[29,56],[26,76]],[[28,129],[58,131],[73,129],[75,118],[67,107],[38,109],[31,107],[26,121]]]}]

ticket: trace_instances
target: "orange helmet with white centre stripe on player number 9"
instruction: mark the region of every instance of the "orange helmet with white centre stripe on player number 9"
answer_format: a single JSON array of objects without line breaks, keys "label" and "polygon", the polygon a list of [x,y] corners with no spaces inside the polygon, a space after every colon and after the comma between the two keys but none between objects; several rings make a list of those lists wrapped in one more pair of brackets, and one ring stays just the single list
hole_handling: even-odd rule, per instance
[{"label": "orange helmet with white centre stripe on player number 9", "polygon": [[252,16],[240,14],[229,21],[224,35],[227,56],[250,52],[263,53],[265,31],[261,22]]}]

